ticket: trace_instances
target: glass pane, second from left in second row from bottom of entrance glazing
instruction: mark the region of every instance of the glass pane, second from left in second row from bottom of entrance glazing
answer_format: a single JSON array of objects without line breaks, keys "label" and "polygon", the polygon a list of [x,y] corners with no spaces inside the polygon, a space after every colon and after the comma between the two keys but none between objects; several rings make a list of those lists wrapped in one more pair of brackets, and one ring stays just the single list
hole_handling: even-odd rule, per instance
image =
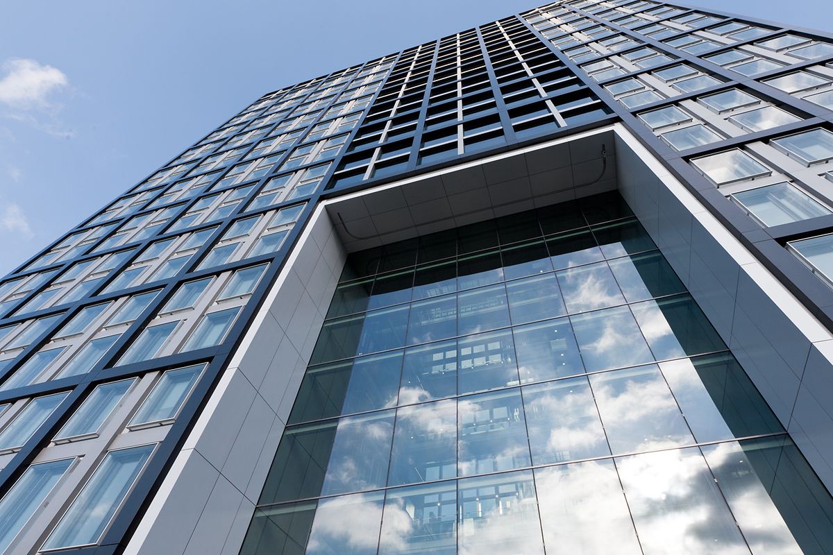
[{"label": "glass pane, second from left in second row from bottom of entrance glazing", "polygon": [[397,409],[387,485],[456,477],[456,420],[454,399]]}]

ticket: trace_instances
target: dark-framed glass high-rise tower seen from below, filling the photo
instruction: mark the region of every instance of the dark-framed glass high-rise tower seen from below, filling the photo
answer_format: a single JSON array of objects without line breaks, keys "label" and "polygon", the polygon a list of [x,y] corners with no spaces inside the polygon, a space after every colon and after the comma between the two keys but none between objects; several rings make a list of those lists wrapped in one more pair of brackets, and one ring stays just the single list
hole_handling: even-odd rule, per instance
[{"label": "dark-framed glass high-rise tower seen from below, filling the photo", "polygon": [[831,110],[651,0],[260,97],[0,281],[0,553],[833,553]]}]

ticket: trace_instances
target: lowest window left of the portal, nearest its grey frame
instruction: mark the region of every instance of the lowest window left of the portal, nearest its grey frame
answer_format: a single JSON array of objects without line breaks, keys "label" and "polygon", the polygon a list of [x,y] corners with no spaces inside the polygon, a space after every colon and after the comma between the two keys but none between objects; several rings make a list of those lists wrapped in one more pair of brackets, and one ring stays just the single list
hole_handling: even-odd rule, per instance
[{"label": "lowest window left of the portal, nearest its grey frame", "polygon": [[107,453],[42,549],[97,543],[155,447],[150,444]]}]

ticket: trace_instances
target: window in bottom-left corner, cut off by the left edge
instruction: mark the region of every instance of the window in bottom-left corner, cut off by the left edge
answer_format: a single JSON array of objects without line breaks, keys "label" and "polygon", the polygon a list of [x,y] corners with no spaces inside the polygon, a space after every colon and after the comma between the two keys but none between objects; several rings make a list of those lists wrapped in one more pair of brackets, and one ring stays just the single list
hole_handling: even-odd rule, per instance
[{"label": "window in bottom-left corner, cut off by the left edge", "polygon": [[0,501],[0,553],[6,553],[12,540],[41,508],[47,496],[72,466],[74,458],[32,464]]}]

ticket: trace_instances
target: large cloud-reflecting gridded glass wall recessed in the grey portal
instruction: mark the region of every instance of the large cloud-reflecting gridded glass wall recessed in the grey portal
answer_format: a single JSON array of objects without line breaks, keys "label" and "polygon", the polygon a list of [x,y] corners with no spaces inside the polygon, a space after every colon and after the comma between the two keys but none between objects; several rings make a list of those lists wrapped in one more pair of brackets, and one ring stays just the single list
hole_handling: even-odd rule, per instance
[{"label": "large cloud-reflecting gridded glass wall recessed in the grey portal", "polygon": [[833,545],[833,499],[616,193],[350,255],[288,424],[244,555]]}]

